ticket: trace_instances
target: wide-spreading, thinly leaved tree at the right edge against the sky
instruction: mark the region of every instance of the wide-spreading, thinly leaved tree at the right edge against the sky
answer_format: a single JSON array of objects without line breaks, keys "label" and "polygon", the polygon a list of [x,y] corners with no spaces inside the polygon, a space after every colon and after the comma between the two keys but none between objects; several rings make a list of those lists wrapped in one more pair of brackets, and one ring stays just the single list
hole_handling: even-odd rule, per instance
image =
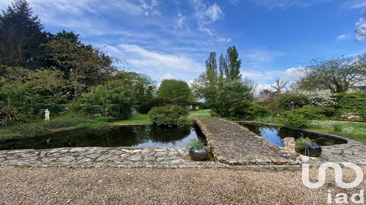
[{"label": "wide-spreading, thinly leaved tree at the right edge against the sky", "polygon": [[366,56],[344,56],[324,60],[313,59],[302,70],[298,87],[305,90],[328,89],[332,93],[347,92],[366,83]]}]

